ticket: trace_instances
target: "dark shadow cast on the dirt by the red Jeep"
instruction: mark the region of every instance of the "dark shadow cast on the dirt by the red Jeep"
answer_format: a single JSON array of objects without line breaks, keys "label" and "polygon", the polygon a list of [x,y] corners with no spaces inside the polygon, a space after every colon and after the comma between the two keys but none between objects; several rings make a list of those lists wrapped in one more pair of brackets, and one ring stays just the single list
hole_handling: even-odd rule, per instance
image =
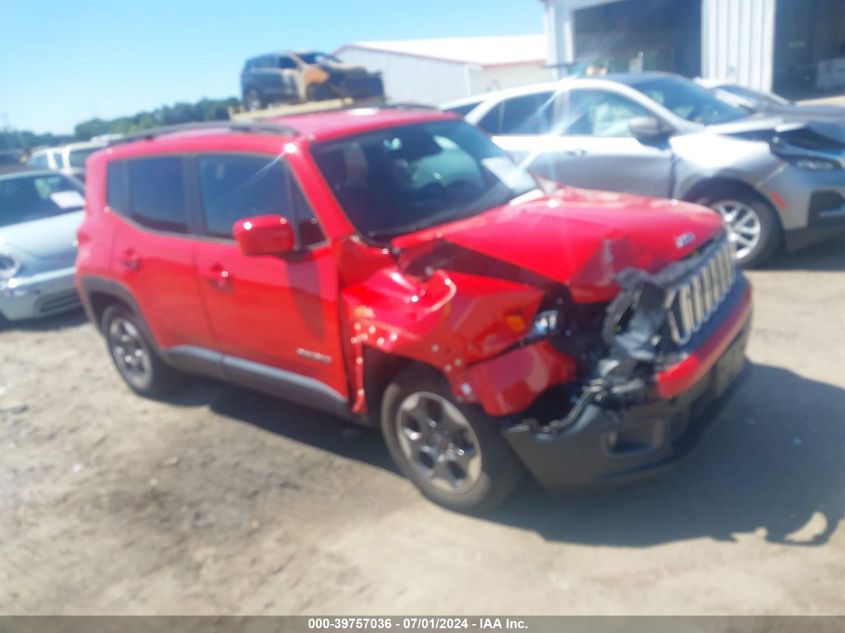
[{"label": "dark shadow cast on the dirt by the red Jeep", "polygon": [[[213,385],[202,381],[173,404],[210,404],[221,415],[396,472],[377,432]],[[658,478],[561,495],[528,481],[484,520],[550,541],[621,547],[751,533],[773,543],[826,543],[845,511],[845,390],[757,365],[719,418],[689,460]]]}]

